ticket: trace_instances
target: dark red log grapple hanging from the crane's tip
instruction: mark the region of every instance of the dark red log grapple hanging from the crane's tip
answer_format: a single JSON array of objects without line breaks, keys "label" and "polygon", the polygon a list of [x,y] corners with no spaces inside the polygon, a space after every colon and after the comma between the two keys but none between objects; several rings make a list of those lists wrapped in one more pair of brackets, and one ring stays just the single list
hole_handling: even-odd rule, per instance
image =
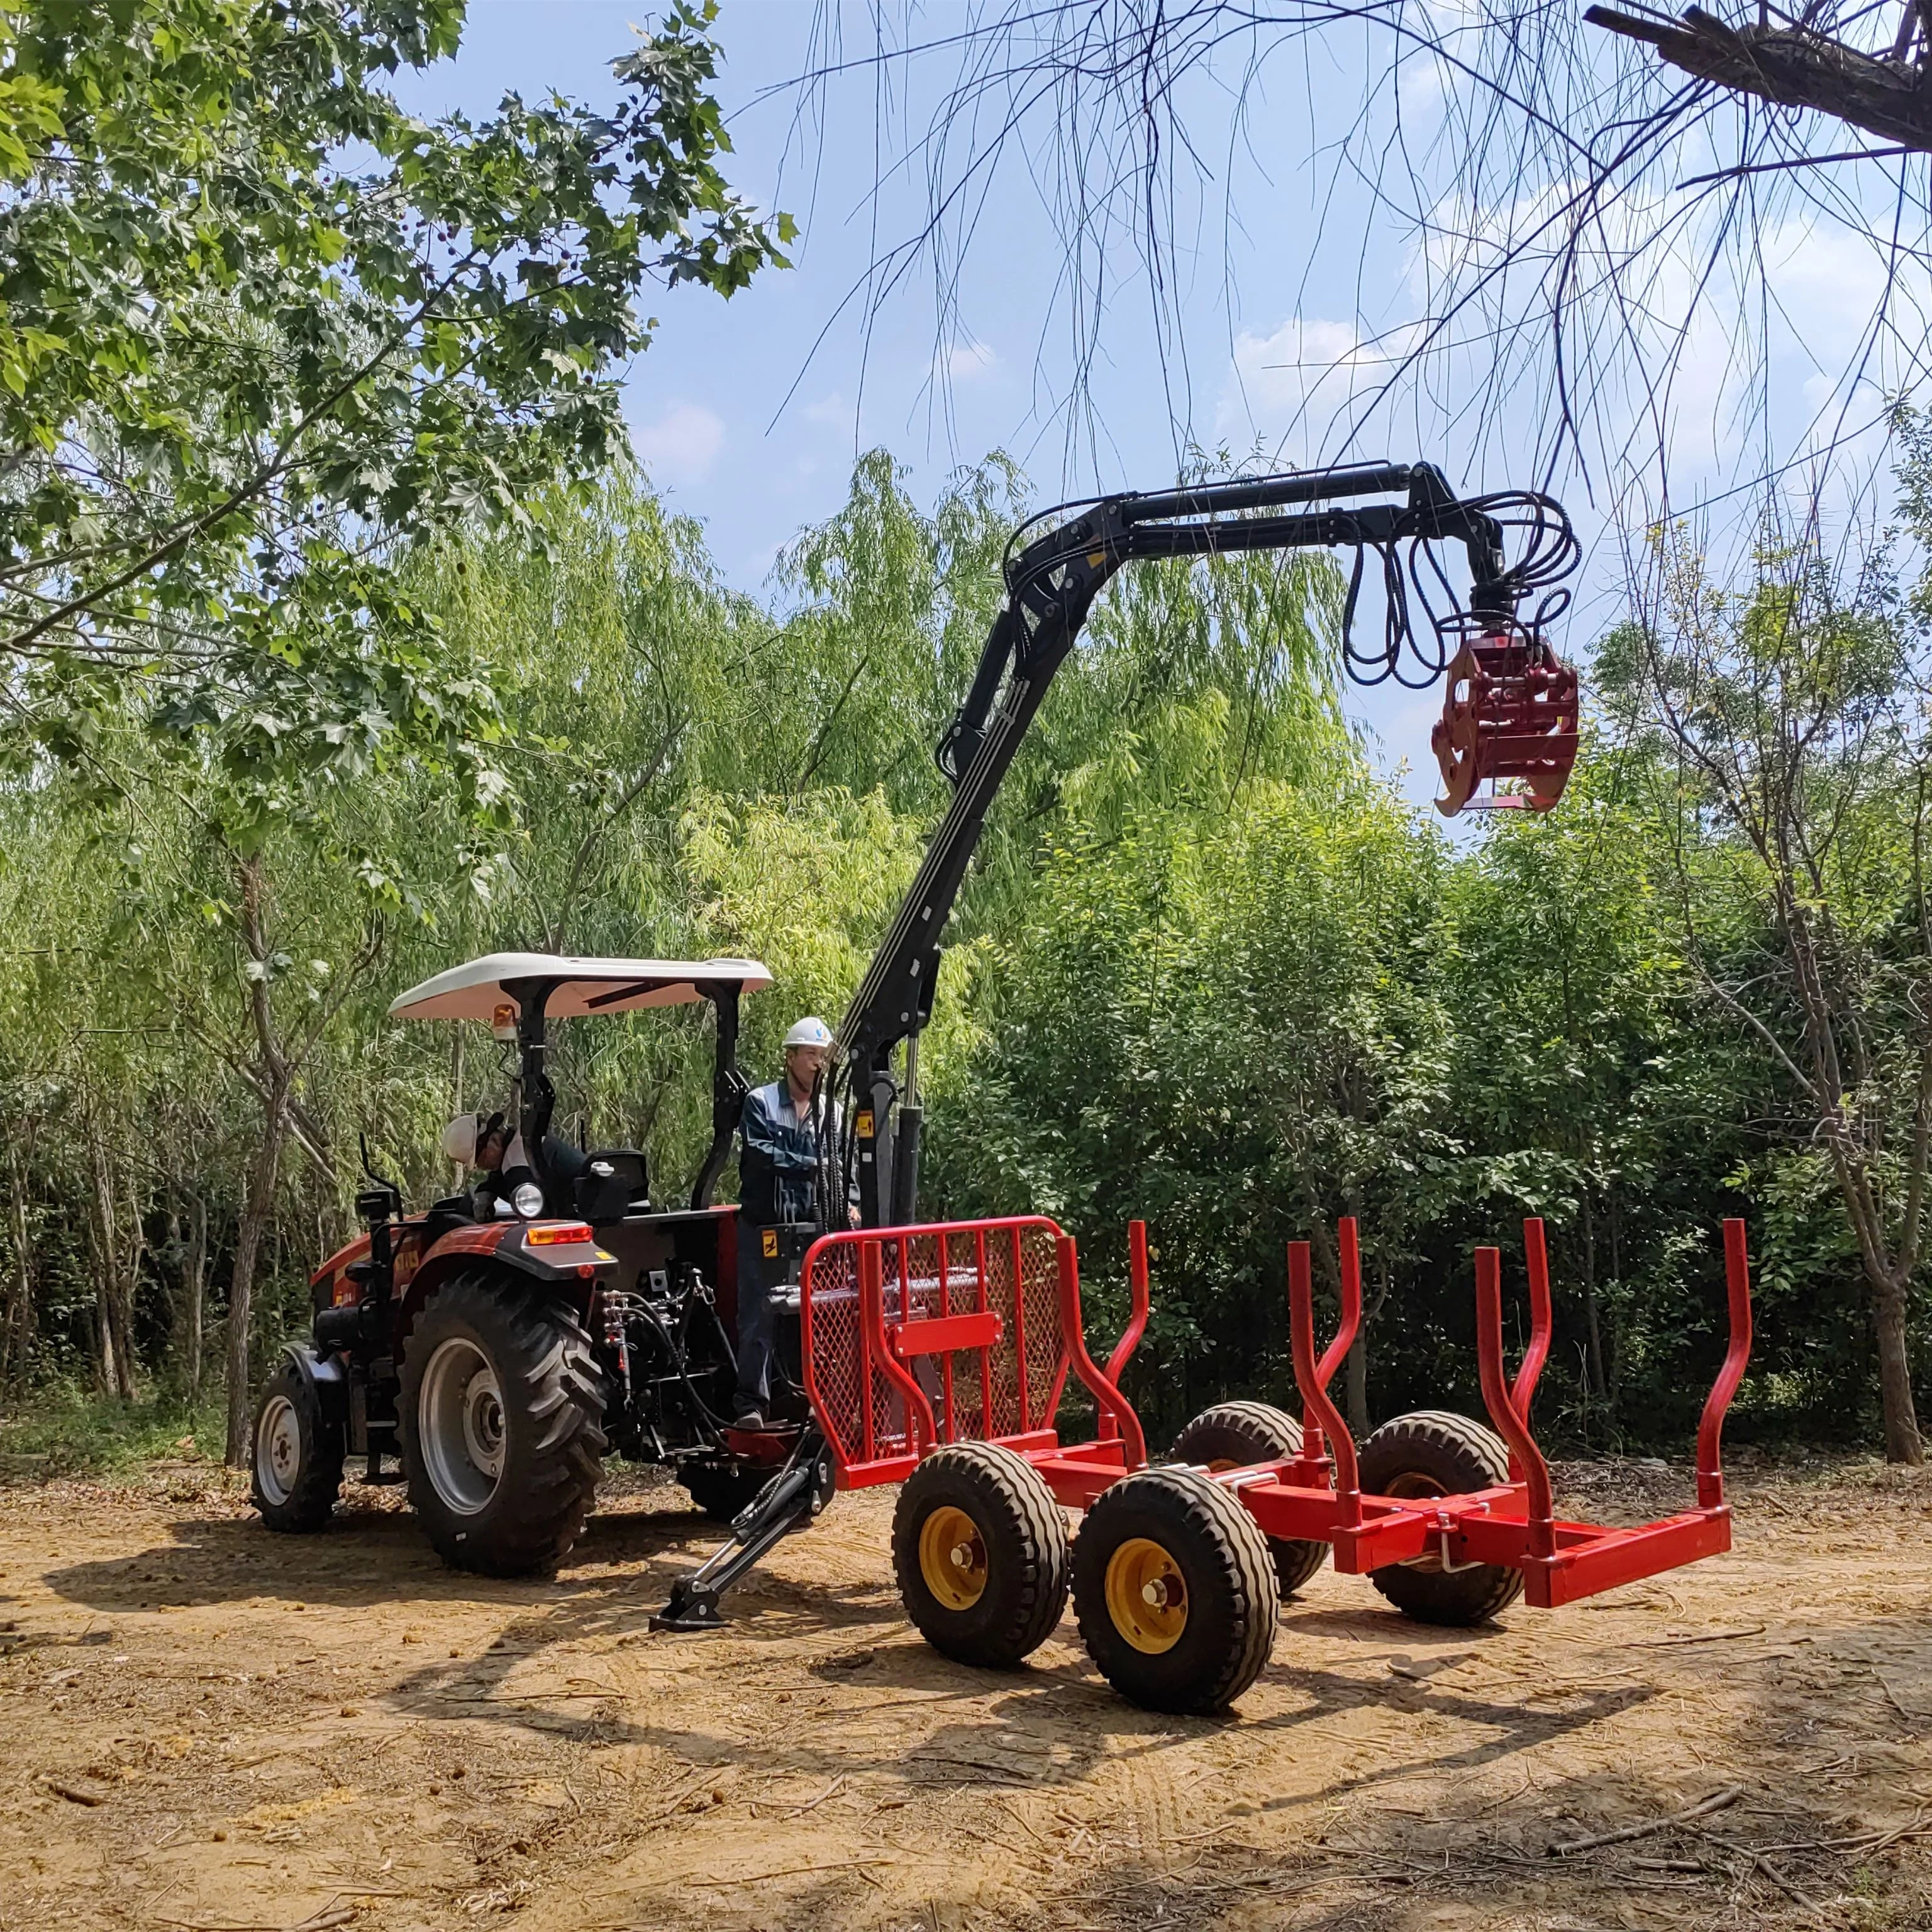
[{"label": "dark red log grapple hanging from the crane's tip", "polygon": [[[1464,638],[1449,665],[1430,748],[1443,773],[1435,810],[1548,811],[1577,763],[1577,672],[1536,630],[1501,626]],[[1490,790],[1480,792],[1488,781]],[[1503,790],[1501,781],[1513,781]]]}]

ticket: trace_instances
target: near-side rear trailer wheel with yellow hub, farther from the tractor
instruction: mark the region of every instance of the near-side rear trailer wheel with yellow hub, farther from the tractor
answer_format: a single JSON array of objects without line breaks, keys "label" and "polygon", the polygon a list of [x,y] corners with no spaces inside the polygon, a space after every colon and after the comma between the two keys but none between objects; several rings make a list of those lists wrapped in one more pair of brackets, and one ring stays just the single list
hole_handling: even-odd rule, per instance
[{"label": "near-side rear trailer wheel with yellow hub, farther from the tractor", "polygon": [[1124,1476],[1074,1540],[1074,1615],[1088,1656],[1148,1710],[1233,1704],[1267,1663],[1281,1586],[1267,1538],[1190,1468]]}]

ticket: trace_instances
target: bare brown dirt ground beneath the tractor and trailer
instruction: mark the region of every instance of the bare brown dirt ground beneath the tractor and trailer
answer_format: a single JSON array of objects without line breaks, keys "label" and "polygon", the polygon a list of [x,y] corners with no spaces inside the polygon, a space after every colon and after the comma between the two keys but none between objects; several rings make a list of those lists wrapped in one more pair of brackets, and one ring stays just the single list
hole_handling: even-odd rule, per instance
[{"label": "bare brown dirt ground beneath the tractor and trailer", "polygon": [[[1683,1499],[1561,1474],[1578,1515]],[[781,1546],[726,1634],[653,1636],[717,1536],[680,1490],[483,1582],[392,1490],[280,1538],[207,1464],[15,1486],[0,1924],[1932,1926],[1932,1480],[1735,1501],[1729,1557],[1484,1631],[1321,1575],[1196,1721],[1121,1702],[1070,1619],[1016,1673],[927,1650],[891,1492]]]}]

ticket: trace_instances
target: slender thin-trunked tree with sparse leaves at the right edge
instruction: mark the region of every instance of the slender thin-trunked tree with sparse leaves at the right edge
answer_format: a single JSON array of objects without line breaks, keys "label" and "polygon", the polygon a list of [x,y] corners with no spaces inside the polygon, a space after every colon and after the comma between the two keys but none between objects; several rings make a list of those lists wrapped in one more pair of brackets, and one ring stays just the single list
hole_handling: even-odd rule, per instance
[{"label": "slender thin-trunked tree with sparse leaves at the right edge", "polygon": [[[1928,446],[1905,421],[1907,508]],[[1915,497],[1917,493],[1917,497]],[[1687,958],[1776,1070],[1785,1140],[1816,1155],[1857,1244],[1886,1455],[1922,1461],[1909,1325],[1932,1182],[1924,616],[1889,541],[1833,568],[1812,522],[1735,587],[1683,529],[1604,653],[1652,750]]]}]

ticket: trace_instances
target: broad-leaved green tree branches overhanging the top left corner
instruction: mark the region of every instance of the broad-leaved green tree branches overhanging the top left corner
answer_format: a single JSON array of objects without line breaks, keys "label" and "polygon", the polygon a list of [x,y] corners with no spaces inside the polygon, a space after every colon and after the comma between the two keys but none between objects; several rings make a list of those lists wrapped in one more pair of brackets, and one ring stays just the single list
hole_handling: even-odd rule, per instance
[{"label": "broad-leaved green tree branches overhanging the top left corner", "polygon": [[601,468],[647,284],[790,234],[719,170],[713,17],[609,110],[429,124],[386,81],[460,0],[0,10],[0,649],[272,643],[292,587],[357,611],[371,543]]}]

